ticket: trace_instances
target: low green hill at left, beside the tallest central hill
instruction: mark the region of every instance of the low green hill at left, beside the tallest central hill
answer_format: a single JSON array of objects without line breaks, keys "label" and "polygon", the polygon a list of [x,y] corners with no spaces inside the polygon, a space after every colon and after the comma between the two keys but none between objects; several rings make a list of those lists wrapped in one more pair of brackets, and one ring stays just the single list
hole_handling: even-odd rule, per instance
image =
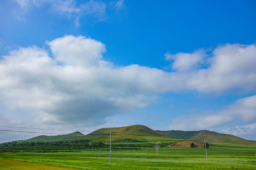
[{"label": "low green hill at left, beside the tallest central hill", "polygon": [[[74,132],[71,134],[67,134],[67,135],[57,135],[57,136],[46,136],[46,135],[41,135],[41,136],[37,136],[37,137],[33,137],[24,141],[34,141],[34,142],[52,142],[52,141],[60,141],[60,140],[73,140],[75,138],[78,137],[82,137],[84,136],[82,133],[80,132]],[[20,142],[20,141],[19,141]]]}]

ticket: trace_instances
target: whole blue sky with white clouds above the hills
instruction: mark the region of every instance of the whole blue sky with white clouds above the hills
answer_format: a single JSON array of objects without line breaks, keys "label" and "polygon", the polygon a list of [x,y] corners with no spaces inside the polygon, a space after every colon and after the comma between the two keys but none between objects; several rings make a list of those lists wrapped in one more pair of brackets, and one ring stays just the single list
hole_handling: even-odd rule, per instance
[{"label": "whole blue sky with white clouds above the hills", "polygon": [[256,140],[255,0],[0,7],[0,143],[135,124]]}]

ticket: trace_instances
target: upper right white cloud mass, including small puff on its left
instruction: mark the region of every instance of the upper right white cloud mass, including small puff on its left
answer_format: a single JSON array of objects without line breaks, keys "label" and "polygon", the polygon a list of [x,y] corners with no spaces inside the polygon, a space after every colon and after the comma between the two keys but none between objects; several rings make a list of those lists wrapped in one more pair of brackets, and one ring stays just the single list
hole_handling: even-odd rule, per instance
[{"label": "upper right white cloud mass, including small puff on its left", "polygon": [[[208,54],[211,52],[210,54]],[[222,92],[234,88],[254,91],[256,87],[256,46],[220,45],[213,51],[165,54],[171,64],[175,84],[199,92]]]}]

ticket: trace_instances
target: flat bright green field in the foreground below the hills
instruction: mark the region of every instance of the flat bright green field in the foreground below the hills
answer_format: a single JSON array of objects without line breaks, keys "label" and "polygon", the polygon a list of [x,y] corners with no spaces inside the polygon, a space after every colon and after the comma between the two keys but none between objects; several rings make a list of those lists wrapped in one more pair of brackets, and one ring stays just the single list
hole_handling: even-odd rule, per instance
[{"label": "flat bright green field in the foreground below the hills", "polygon": [[[121,148],[122,149],[122,148]],[[5,161],[36,163],[26,170],[40,170],[42,165],[70,168],[77,170],[255,170],[256,156],[254,146],[211,144],[206,161],[204,148],[160,147],[159,156],[153,147],[141,147],[112,151],[112,164],[109,164],[109,150],[58,150],[52,153],[19,151],[0,153],[0,170]],[[40,166],[39,166],[39,165]],[[15,166],[15,165],[14,165]],[[38,166],[38,169],[36,169]]]}]

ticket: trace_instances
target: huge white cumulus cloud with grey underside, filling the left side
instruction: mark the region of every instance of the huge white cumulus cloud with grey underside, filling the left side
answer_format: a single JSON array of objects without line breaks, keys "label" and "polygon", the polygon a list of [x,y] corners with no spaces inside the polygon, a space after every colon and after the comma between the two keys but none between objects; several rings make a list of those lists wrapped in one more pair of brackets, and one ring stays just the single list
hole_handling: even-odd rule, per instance
[{"label": "huge white cumulus cloud with grey underside, filling the left side", "polygon": [[118,111],[151,105],[165,89],[167,73],[115,66],[103,59],[105,45],[96,40],[67,35],[46,43],[53,58],[34,46],[10,51],[0,62],[0,100],[37,122],[102,123]]}]

